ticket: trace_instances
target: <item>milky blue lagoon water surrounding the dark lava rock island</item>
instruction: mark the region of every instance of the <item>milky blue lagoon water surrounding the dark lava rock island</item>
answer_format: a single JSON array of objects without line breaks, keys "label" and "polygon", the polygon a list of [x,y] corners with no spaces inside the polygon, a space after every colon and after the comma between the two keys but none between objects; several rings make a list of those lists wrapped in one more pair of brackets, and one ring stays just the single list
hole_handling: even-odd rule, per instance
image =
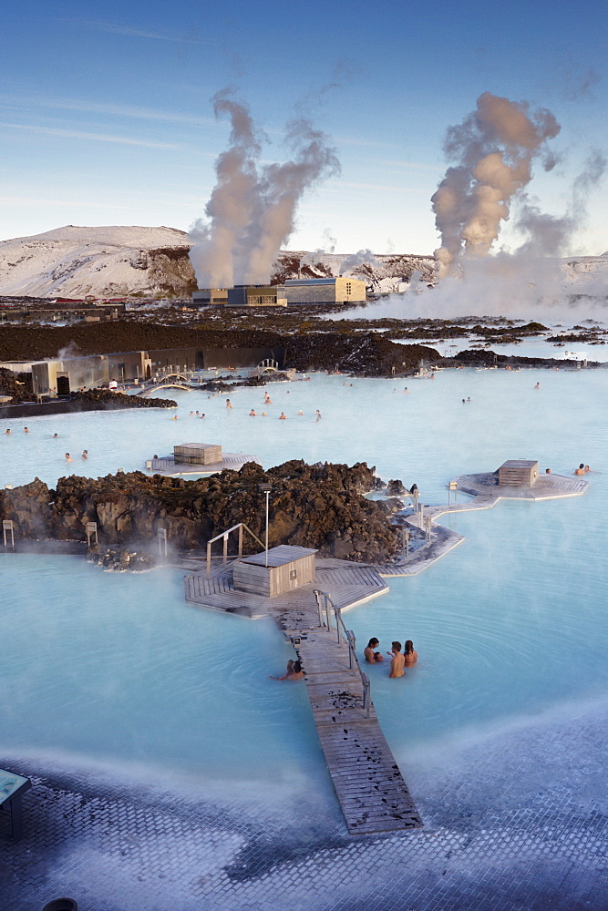
[{"label": "milky blue lagoon water surrounding the dark lava rock island", "polygon": [[[131,470],[192,441],[265,466],[366,460],[385,478],[416,481],[426,503],[445,502],[451,477],[507,458],[569,475],[591,465],[585,496],[444,517],[465,536],[459,548],[345,615],[361,647],[373,635],[384,651],[394,638],[415,642],[420,659],[404,680],[369,669],[383,729],[407,762],[605,691],[606,383],[603,370],[315,375],[270,387],[273,404],[257,418],[248,413],[262,412],[263,391],[235,390],[232,411],[225,396],[176,392],[176,422],[154,410],[61,415],[29,419],[27,435],[23,421],[3,422],[0,482]],[[189,416],[196,409],[204,421]],[[87,462],[76,457],[83,448]],[[217,780],[323,768],[304,686],[268,680],[290,657],[273,623],[187,606],[173,570],[117,575],[77,558],[2,555],[0,573],[5,748]]]}]

